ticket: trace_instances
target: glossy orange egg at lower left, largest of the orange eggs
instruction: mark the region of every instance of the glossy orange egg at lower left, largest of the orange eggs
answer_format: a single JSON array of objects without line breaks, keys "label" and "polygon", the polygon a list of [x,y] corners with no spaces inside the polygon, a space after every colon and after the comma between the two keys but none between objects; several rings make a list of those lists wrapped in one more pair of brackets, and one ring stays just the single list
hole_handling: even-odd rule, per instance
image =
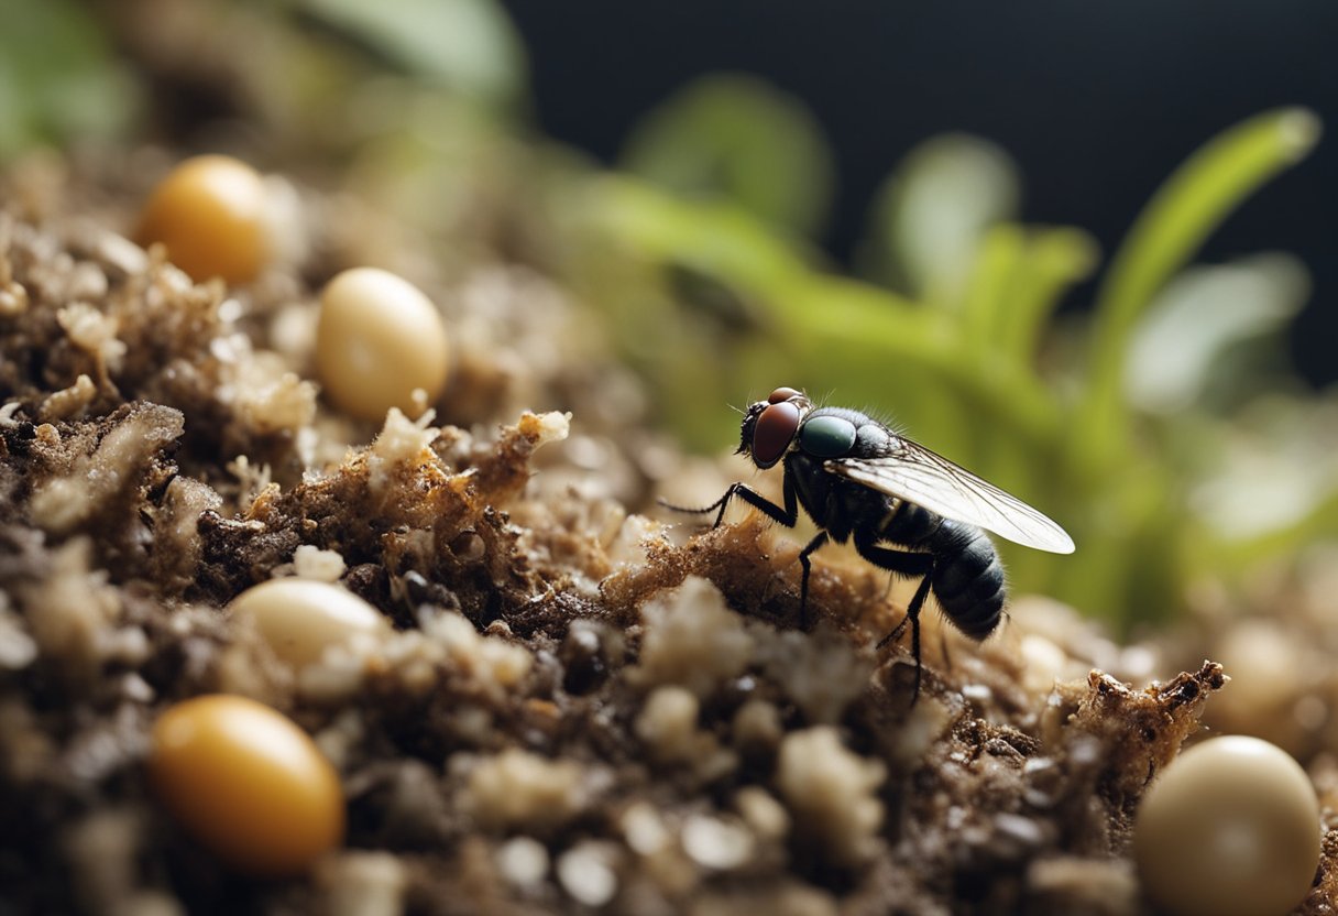
[{"label": "glossy orange egg at lower left, largest of the orange eggs", "polygon": [[301,872],[344,840],[334,767],[256,700],[217,694],[169,708],[154,726],[149,774],[186,830],[241,872]]}]

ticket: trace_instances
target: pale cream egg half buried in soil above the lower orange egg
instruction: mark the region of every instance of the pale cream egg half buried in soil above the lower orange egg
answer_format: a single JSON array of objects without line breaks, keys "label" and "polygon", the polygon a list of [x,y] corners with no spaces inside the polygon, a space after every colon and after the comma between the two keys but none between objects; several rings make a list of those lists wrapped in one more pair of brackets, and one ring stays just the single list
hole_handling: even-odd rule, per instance
[{"label": "pale cream egg half buried in soil above the lower orange egg", "polygon": [[229,607],[250,617],[274,655],[294,668],[318,662],[328,645],[387,629],[385,617],[371,604],[347,588],[310,579],[272,579]]}]

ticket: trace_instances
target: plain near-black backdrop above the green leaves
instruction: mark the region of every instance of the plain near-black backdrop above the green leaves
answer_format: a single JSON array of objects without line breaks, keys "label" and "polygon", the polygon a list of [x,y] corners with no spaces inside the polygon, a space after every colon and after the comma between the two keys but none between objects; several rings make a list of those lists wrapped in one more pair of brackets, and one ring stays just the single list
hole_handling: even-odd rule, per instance
[{"label": "plain near-black backdrop above the green leaves", "polygon": [[[1282,104],[1338,127],[1338,3],[1329,0],[504,5],[529,48],[541,127],[606,162],[642,112],[701,74],[756,74],[801,99],[836,151],[823,241],[843,260],[875,187],[938,133],[1004,146],[1022,170],[1025,220],[1081,226],[1109,254],[1161,179],[1222,129]],[[1315,287],[1291,340],[1317,384],[1338,379],[1333,146],[1325,137],[1247,201],[1202,256],[1302,257]]]}]

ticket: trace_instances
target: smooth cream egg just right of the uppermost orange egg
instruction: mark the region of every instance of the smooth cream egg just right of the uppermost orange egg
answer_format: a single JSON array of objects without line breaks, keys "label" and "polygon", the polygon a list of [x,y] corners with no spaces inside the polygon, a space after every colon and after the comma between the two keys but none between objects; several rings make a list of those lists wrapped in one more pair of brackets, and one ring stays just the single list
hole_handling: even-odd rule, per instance
[{"label": "smooth cream egg just right of the uppermost orange egg", "polygon": [[413,390],[431,403],[448,368],[446,324],[417,287],[376,268],[345,271],[325,285],[316,370],[336,407],[371,421],[391,407],[416,416]]}]

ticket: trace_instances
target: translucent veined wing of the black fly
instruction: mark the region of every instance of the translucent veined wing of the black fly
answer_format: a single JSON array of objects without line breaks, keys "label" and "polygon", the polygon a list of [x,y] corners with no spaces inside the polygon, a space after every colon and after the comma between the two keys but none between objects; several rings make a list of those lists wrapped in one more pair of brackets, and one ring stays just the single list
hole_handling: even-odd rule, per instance
[{"label": "translucent veined wing of the black fly", "polygon": [[824,466],[832,474],[1014,544],[1073,553],[1073,538],[1044,514],[910,439],[894,438],[890,451],[879,458],[836,458]]}]

